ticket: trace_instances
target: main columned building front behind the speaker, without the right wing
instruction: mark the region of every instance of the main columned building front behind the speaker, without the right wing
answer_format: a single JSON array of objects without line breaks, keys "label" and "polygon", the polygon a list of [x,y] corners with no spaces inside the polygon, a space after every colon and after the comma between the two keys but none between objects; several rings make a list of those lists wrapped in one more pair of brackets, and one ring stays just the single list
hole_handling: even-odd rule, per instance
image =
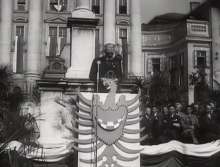
[{"label": "main columned building front behind the speaker, without the right wing", "polygon": [[65,67],[70,67],[74,57],[71,58],[72,39],[67,19],[80,5],[88,6],[98,19],[94,55],[101,56],[106,43],[116,44],[120,53],[123,45],[127,53],[123,58],[126,76],[142,75],[140,1],[86,0],[83,3],[79,0],[1,0],[0,62],[13,70],[15,86],[27,94],[32,92],[35,81],[42,77],[52,57],[60,57]]}]

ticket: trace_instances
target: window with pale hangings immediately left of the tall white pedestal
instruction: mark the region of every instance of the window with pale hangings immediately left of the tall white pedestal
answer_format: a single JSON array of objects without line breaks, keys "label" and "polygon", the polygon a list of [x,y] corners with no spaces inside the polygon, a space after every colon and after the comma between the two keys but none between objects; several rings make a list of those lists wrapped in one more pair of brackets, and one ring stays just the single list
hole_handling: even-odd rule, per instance
[{"label": "window with pale hangings immediately left of the tall white pedestal", "polygon": [[66,27],[49,27],[49,38],[48,38],[48,56],[61,55],[67,40],[67,29]]}]

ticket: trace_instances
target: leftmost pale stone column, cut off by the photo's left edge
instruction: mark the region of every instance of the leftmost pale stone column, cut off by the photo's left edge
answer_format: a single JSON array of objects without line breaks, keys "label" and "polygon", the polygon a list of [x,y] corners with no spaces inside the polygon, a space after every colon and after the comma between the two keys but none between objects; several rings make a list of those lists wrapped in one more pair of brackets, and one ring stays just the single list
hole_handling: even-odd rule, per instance
[{"label": "leftmost pale stone column, cut off by the photo's left edge", "polygon": [[1,0],[0,65],[10,65],[13,0]]}]

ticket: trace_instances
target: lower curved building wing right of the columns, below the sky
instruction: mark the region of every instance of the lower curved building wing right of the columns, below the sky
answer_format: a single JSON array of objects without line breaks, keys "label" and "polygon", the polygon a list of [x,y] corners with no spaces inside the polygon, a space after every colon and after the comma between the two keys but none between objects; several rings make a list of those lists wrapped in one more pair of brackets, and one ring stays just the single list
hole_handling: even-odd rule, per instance
[{"label": "lower curved building wing right of the columns, below the sky", "polygon": [[203,71],[212,85],[211,38],[208,21],[167,14],[142,25],[145,77],[165,73],[169,84],[194,102],[190,75]]}]

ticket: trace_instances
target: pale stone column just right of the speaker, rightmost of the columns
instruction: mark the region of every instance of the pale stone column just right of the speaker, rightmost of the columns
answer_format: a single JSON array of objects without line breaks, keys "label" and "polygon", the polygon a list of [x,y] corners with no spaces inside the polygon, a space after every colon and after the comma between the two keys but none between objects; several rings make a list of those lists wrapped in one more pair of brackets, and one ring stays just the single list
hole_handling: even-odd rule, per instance
[{"label": "pale stone column just right of the speaker, rightmost of the columns", "polygon": [[131,0],[131,57],[129,74],[143,76],[144,62],[142,56],[141,35],[141,0]]}]

